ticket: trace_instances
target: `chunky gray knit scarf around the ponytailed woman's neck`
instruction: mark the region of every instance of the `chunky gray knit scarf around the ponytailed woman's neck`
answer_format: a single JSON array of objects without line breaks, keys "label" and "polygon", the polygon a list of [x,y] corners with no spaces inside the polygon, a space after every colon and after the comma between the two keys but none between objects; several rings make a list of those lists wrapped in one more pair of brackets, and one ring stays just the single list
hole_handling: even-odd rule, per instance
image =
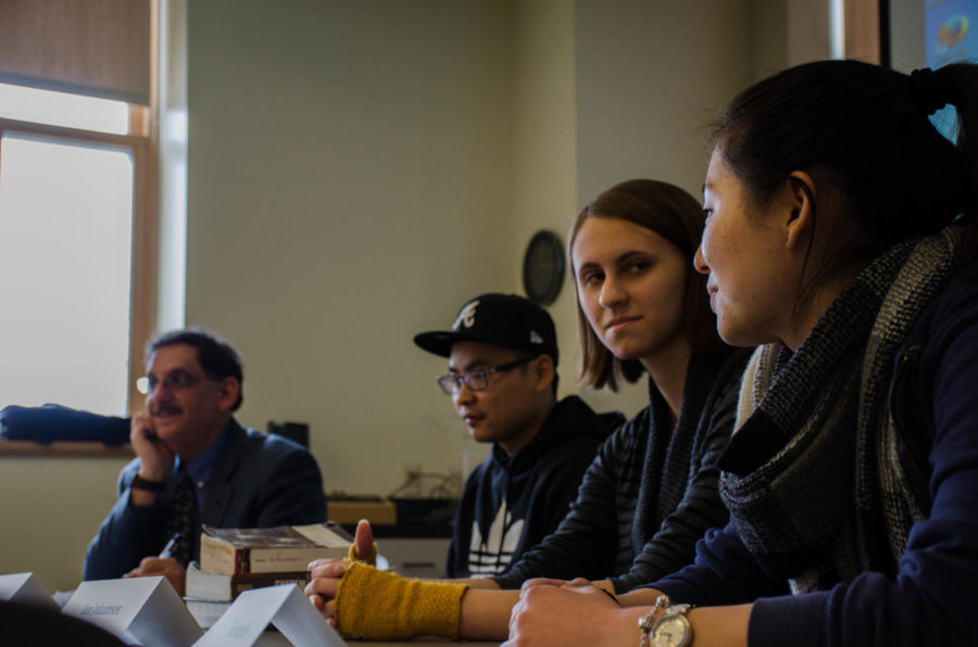
[{"label": "chunky gray knit scarf around the ponytailed woman's neck", "polygon": [[962,240],[951,226],[892,248],[798,352],[769,344],[751,358],[738,431],[719,462],[720,495],[748,549],[794,593],[896,571],[924,508],[896,454],[893,361],[958,265]]}]

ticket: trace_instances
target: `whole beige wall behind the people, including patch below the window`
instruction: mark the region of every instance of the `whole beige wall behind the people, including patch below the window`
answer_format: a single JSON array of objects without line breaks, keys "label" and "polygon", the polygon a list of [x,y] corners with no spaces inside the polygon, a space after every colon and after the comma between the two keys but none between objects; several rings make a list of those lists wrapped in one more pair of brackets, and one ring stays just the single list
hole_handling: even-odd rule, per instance
[{"label": "whole beige wall behind the people, including patch below the window", "polygon": [[[613,182],[697,195],[700,126],[788,64],[789,4],[189,3],[186,316],[244,354],[240,420],[310,423],[328,490],[387,493],[405,464],[469,469],[486,448],[412,334],[478,292],[521,291],[531,233],[564,236]],[[774,33],[789,36],[758,42]],[[551,312],[570,393],[569,282]],[[647,396],[586,397],[634,414]],[[0,509],[20,530],[0,535],[0,572],[74,586],[121,465],[4,459]]]}]

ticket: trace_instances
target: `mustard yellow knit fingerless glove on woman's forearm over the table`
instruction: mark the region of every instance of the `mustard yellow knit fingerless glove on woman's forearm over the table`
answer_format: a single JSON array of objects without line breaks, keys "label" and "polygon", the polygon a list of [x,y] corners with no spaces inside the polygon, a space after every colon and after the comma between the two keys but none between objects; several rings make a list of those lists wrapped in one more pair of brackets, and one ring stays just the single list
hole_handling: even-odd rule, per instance
[{"label": "mustard yellow knit fingerless glove on woman's forearm over the table", "polygon": [[353,563],[340,580],[334,617],[340,632],[372,640],[456,640],[466,588],[468,584],[408,580]]}]

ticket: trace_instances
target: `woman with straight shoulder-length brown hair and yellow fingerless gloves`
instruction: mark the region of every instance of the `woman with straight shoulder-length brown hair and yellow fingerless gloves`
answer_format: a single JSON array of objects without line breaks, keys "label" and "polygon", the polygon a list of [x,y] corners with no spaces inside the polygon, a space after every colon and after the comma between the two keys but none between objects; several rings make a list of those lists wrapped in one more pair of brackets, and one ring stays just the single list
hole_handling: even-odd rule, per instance
[{"label": "woman with straight shoulder-length brown hair and yellow fingerless gloves", "polygon": [[[527,580],[581,576],[622,593],[692,560],[695,542],[727,519],[716,459],[749,354],[716,334],[692,267],[702,227],[692,196],[653,180],[612,187],[580,213],[569,255],[584,378],[615,389],[648,373],[649,407],[600,447],[557,530],[503,575],[430,583],[314,564],[306,593],[341,631],[498,639]],[[368,555],[360,530],[358,554]]]}]

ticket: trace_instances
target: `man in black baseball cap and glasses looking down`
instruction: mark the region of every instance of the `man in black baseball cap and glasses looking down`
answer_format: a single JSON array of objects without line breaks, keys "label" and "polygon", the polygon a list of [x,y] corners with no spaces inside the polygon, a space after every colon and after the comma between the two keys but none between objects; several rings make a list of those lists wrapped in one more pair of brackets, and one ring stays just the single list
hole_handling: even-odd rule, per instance
[{"label": "man in black baseball cap and glasses looking down", "polygon": [[473,437],[492,443],[465,481],[446,575],[504,573],[556,529],[611,429],[579,397],[557,401],[553,320],[527,299],[482,294],[451,330],[414,343],[448,357],[439,386]]}]

